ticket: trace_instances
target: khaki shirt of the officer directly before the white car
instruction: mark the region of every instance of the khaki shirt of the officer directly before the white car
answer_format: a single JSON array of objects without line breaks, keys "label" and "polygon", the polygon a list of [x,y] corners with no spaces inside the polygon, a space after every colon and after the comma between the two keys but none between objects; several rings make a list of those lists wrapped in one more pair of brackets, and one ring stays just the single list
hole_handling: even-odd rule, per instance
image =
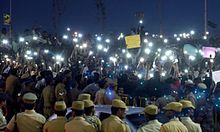
[{"label": "khaki shirt of the officer directly before the white car", "polygon": [[119,117],[111,115],[102,121],[102,132],[128,132],[131,131],[127,124]]}]

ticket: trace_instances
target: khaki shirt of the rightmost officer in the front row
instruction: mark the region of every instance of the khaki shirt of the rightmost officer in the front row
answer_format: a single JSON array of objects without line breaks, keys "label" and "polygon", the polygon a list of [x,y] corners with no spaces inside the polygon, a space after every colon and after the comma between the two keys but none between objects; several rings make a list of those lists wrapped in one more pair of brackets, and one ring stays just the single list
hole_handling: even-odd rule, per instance
[{"label": "khaki shirt of the rightmost officer in the front row", "polygon": [[180,119],[189,132],[202,132],[200,124],[193,122],[190,117],[181,117]]}]

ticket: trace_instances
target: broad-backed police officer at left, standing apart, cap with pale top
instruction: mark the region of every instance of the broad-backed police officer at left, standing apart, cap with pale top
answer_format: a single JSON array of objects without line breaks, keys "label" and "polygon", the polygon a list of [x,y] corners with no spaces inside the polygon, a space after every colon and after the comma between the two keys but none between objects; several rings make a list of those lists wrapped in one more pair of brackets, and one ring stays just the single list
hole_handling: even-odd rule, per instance
[{"label": "broad-backed police officer at left, standing apart, cap with pale top", "polygon": [[19,132],[41,132],[46,119],[34,110],[37,96],[29,92],[24,94],[22,99],[25,112],[15,114],[8,123],[6,130],[14,131],[16,122]]}]

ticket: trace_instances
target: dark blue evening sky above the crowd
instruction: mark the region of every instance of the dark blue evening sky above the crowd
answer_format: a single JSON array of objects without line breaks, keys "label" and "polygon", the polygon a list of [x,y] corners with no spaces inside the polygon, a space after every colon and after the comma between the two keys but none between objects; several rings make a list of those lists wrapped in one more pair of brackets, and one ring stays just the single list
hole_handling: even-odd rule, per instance
[{"label": "dark blue evening sky above the crowd", "polygon": [[[57,0],[58,1],[58,0]],[[60,0],[62,1],[62,0]],[[99,32],[95,0],[63,0],[63,15],[59,20],[59,32],[66,27],[81,32]],[[144,26],[150,32],[159,32],[159,0],[104,0],[106,7],[106,31],[128,32],[137,26],[135,12],[143,11]],[[167,34],[194,29],[203,31],[204,0],[162,0],[163,27]],[[220,0],[208,0],[209,20],[220,26]],[[13,28],[15,32],[41,25],[52,31],[52,0],[12,0]],[[9,0],[0,0],[0,15],[9,11]],[[2,17],[0,18],[2,23]],[[2,24],[0,24],[0,28]],[[219,30],[219,28],[218,28]]]}]

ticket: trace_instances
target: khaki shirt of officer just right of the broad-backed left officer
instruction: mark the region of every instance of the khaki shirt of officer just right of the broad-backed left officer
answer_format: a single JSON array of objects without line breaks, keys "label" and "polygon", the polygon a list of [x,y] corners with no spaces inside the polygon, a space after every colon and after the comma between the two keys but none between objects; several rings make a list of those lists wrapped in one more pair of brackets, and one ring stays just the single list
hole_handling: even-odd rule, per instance
[{"label": "khaki shirt of officer just right of the broad-backed left officer", "polygon": [[66,117],[57,117],[57,119],[48,121],[44,125],[44,132],[64,132],[64,125],[66,122]]}]

